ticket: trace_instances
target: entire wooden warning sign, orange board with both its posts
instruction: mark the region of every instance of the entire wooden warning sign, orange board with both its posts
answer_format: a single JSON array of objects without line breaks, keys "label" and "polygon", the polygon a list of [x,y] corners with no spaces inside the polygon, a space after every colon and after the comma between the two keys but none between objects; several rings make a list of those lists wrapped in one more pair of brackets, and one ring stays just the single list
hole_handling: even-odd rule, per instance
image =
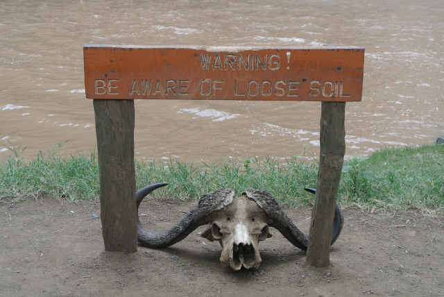
[{"label": "entire wooden warning sign, orange board with both its posts", "polygon": [[85,45],[83,53],[86,96],[96,114],[105,250],[137,250],[134,99],[323,101],[307,262],[330,263],[344,108],[361,101],[363,48]]}]

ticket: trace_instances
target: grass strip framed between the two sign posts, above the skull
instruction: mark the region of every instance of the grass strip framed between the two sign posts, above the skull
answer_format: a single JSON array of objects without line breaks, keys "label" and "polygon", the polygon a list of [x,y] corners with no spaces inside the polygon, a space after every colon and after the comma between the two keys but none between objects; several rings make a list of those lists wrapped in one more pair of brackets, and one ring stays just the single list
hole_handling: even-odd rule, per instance
[{"label": "grass strip framed between the two sign posts, above the skull", "polygon": [[234,189],[237,194],[251,188],[264,189],[273,193],[280,203],[300,205],[313,198],[303,187],[316,187],[317,180],[317,165],[304,160],[302,156],[292,156],[284,160],[227,159],[216,164],[183,163],[173,159],[136,162],[137,188],[162,181],[169,185],[157,190],[157,195],[185,200],[200,198],[225,187]]}]

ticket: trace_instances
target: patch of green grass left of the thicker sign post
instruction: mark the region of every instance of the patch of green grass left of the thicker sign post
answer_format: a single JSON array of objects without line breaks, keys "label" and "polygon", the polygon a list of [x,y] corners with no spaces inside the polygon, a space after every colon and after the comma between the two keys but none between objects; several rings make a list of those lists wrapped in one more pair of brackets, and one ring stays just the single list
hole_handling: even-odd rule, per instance
[{"label": "patch of green grass left of the thicker sign post", "polygon": [[89,199],[99,194],[99,167],[96,153],[71,155],[64,159],[62,144],[23,162],[20,154],[26,148],[9,147],[9,155],[0,171],[0,198],[53,196],[69,200]]}]

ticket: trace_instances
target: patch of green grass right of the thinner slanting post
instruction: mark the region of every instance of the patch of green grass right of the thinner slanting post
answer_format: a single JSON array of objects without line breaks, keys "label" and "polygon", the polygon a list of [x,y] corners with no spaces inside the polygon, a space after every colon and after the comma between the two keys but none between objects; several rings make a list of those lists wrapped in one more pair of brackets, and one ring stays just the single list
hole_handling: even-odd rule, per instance
[{"label": "patch of green grass right of the thinner slanting post", "polygon": [[[350,163],[357,170],[343,174],[343,204],[424,212],[444,208],[444,145],[385,148],[360,164]],[[368,178],[359,176],[368,171],[373,173]]]}]

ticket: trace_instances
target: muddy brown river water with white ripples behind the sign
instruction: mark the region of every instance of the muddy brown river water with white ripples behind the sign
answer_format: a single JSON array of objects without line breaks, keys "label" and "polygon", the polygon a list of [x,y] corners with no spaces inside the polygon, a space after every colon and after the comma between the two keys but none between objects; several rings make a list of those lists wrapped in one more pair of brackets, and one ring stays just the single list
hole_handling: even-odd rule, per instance
[{"label": "muddy brown river water with white ripples behind the sign", "polygon": [[[346,157],[444,135],[443,0],[1,0],[0,161],[65,143],[96,147],[84,44],[364,46],[364,93],[347,103]],[[206,162],[317,158],[319,102],[137,100],[135,154]]]}]

